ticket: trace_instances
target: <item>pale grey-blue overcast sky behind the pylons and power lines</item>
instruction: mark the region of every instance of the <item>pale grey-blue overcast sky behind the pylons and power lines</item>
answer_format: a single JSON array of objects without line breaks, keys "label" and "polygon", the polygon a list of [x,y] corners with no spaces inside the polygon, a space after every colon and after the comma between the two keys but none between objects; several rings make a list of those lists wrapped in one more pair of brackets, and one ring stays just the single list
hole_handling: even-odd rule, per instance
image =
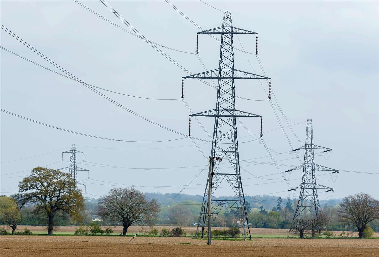
[{"label": "pale grey-blue overcast sky behind the pylons and power lines", "polygon": [[[377,1],[205,2],[222,11],[230,10],[233,26],[258,33],[259,58],[266,75],[272,78],[280,108],[290,119],[288,123],[294,133],[288,127],[284,129],[293,148],[304,144],[306,121],[313,119],[314,143],[333,149],[329,159],[328,155],[316,155],[317,164],[339,170],[378,173]],[[130,30],[100,1],[81,3]],[[168,3],[108,3],[147,39],[180,51],[194,53],[196,50],[196,32],[200,29]],[[222,25],[223,13],[200,1],[171,3],[201,28]],[[1,23],[88,84],[143,98],[180,98],[185,71],[143,40],[100,19],[74,1],[1,1]],[[239,40],[245,51],[255,51],[254,35],[234,37],[235,48],[241,49]],[[3,30],[1,46],[59,71]],[[195,54],[160,49],[189,72],[204,71]],[[200,35],[199,52],[207,70],[218,68],[218,41]],[[138,118],[78,82],[5,50],[0,53],[1,108],[4,110],[105,138],[161,141],[182,137]],[[235,50],[235,68],[248,72],[253,72],[254,68],[255,73],[263,74],[257,57],[252,54],[247,57],[249,60],[244,53]],[[236,81],[236,95],[267,99],[264,89],[268,90],[268,85],[266,81],[261,82],[262,85],[257,80]],[[99,91],[139,115],[171,130],[188,133],[191,112],[181,100],[140,99]],[[193,113],[215,108],[216,90],[200,81],[185,80],[184,96]],[[292,150],[291,145],[278,129],[280,125],[269,101],[236,98],[236,108],[263,115],[263,138],[275,151],[270,153],[277,164],[298,166],[301,163],[304,151],[299,152],[301,161],[288,153]],[[281,124],[288,126],[283,115],[275,110]],[[258,118],[241,120],[258,136]],[[212,135],[214,119],[200,117],[199,121]],[[239,142],[253,139],[241,123],[237,126]],[[273,131],[266,132],[269,130]],[[193,137],[210,140],[194,119],[191,133]],[[210,155],[210,143],[195,142],[206,156]],[[271,162],[267,150],[259,142],[241,143],[240,159]],[[78,155],[78,163],[82,162],[78,166],[90,170],[90,180],[86,180],[87,172],[78,172],[78,180],[84,180],[81,183],[87,185],[88,195],[85,196],[88,197],[105,194],[112,187],[110,185],[117,185],[114,183],[135,185],[143,192],[179,192],[207,165],[207,159],[188,138],[152,143],[109,141],[63,132],[2,112],[0,194],[17,192],[17,182],[33,167],[51,164],[47,167],[59,169],[68,166],[69,154],[60,161],[61,152],[70,150],[72,144],[85,152],[86,161],[82,162],[83,156]],[[36,157],[29,158],[32,156]],[[104,164],[136,169],[99,167],[106,166]],[[220,167],[227,166],[222,161]],[[282,191],[301,184],[301,171],[291,172],[290,178],[289,173],[284,173],[290,185],[278,174],[278,168],[285,171],[289,166],[242,161],[241,166],[252,174],[241,170],[244,192],[248,195],[275,193],[273,195],[287,197],[288,193]],[[276,174],[269,175],[273,173]],[[340,172],[333,181],[330,175],[323,175],[325,173],[317,172],[321,175],[317,177],[318,183],[335,188],[335,192],[333,196],[319,192],[320,200],[358,192],[379,198],[378,175]],[[183,193],[204,194],[206,178],[207,169]],[[80,188],[84,191],[84,187]],[[215,192],[217,196],[229,193],[227,187],[220,187]]]}]

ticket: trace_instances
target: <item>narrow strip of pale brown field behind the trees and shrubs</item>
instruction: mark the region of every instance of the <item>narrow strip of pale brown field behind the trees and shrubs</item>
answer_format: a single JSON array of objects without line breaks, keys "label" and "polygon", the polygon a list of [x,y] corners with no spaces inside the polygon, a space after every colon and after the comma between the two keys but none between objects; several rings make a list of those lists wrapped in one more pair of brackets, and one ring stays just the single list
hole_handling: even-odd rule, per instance
[{"label": "narrow strip of pale brown field behind the trees and shrubs", "polygon": [[[122,226],[102,226],[101,228],[105,230],[106,228],[111,227],[115,233],[120,233],[122,231]],[[18,231],[22,231],[24,228],[30,229],[31,232],[33,233],[47,233],[47,229],[44,228],[43,226],[17,226]],[[166,229],[172,229],[175,228],[174,226],[155,226],[154,228],[158,229],[159,232],[161,232],[161,229],[166,228]],[[191,233],[196,232],[196,227],[182,227],[183,230],[187,233],[189,236]],[[150,232],[150,227],[145,227],[144,231]],[[213,229],[228,229],[228,228],[213,228]],[[128,228],[128,233],[135,234],[138,231],[141,230],[140,226],[130,226]],[[69,227],[59,227],[58,230],[56,230],[59,233],[64,233],[64,232],[70,232],[74,233],[75,232],[75,226],[69,226]],[[273,228],[251,228],[250,229],[251,234],[254,236],[254,234],[258,235],[270,235],[270,236],[287,236],[291,235],[288,233],[288,229],[273,229]],[[339,235],[341,231],[332,231],[334,234]],[[357,232],[354,233],[354,236],[357,237]],[[379,237],[379,232],[375,232],[374,237]]]}]

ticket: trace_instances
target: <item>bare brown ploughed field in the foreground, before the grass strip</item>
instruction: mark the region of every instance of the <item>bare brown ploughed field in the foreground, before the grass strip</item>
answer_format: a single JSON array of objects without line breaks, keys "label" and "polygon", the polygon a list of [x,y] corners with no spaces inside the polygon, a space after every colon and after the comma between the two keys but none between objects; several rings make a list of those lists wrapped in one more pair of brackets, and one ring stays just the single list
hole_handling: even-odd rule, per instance
[{"label": "bare brown ploughed field in the foreground, before the grass strip", "polygon": [[[0,256],[167,256],[230,257],[302,257],[379,256],[378,239],[288,239],[257,238],[252,241],[207,240],[189,238],[91,236],[1,236]],[[191,243],[192,245],[179,245]]]}]

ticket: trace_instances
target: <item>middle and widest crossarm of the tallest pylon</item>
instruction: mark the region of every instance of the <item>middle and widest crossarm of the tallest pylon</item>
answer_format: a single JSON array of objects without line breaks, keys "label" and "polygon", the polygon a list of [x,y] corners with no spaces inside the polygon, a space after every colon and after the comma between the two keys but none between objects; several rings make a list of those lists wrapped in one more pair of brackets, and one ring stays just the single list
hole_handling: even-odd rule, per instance
[{"label": "middle and widest crossarm of the tallest pylon", "polygon": [[[204,71],[201,73],[182,77],[183,79],[271,79],[270,77],[257,75],[254,73],[240,71],[236,69],[221,69],[221,76],[219,75],[220,69]],[[234,74],[234,75],[233,75]]]}]

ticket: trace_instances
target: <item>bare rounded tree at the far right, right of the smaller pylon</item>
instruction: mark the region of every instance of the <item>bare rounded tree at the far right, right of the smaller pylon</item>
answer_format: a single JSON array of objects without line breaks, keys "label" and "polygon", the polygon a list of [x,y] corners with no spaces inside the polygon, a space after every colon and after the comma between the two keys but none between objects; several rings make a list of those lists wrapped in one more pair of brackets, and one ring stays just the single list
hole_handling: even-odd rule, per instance
[{"label": "bare rounded tree at the far right, right of the smaller pylon", "polygon": [[340,203],[338,216],[341,221],[356,226],[358,237],[362,238],[367,224],[379,219],[379,201],[369,194],[349,195]]}]

